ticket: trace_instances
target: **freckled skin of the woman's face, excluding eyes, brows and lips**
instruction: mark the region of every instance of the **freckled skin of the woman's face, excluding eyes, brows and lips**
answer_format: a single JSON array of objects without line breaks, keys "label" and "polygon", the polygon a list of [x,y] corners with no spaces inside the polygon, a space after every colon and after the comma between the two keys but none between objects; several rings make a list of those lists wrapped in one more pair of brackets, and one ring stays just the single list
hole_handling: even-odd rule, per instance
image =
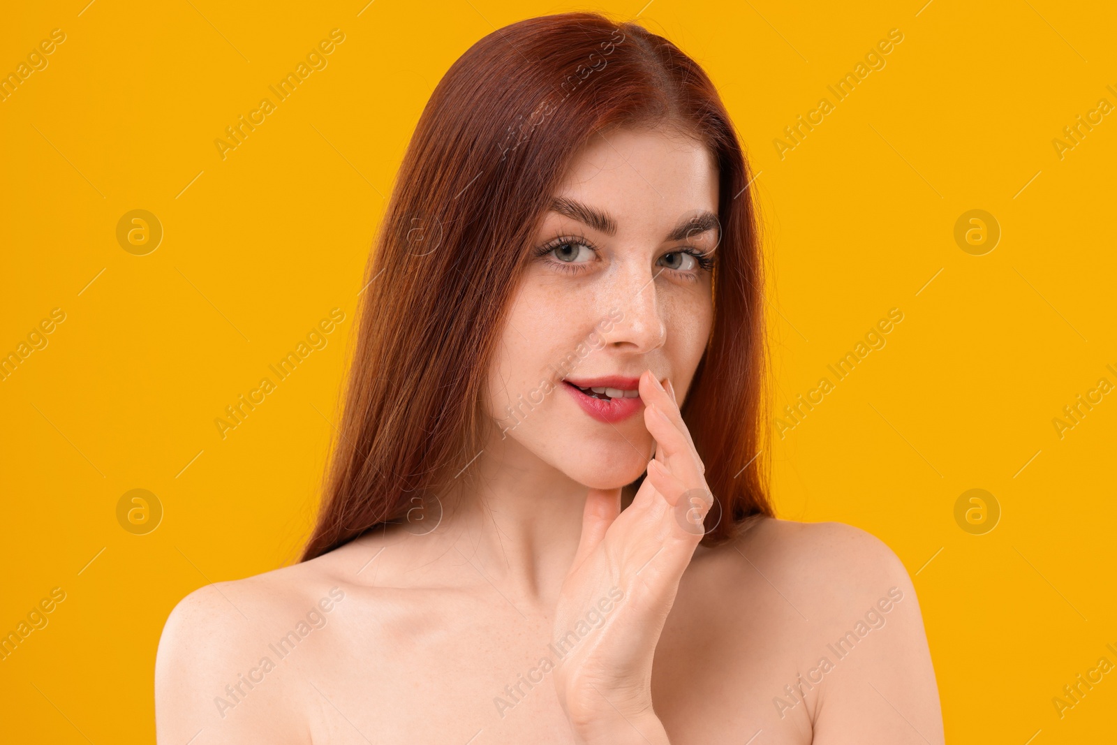
[{"label": "freckled skin of the woman's face, excluding eyes, brows and lips", "polygon": [[[500,354],[490,375],[495,418],[521,393],[538,388],[595,331],[611,311],[623,314],[601,334],[601,350],[574,369],[575,378],[623,374],[638,378],[650,369],[669,378],[680,397],[690,384],[713,324],[708,271],[682,277],[660,259],[691,246],[709,251],[716,232],[691,240],[666,241],[680,219],[698,210],[717,212],[717,170],[697,142],[663,133],[615,132],[593,141],[571,170],[556,197],[569,197],[613,216],[615,236],[572,218],[548,212],[533,245],[555,237],[584,236],[598,254],[581,251],[585,270],[571,275],[534,261],[513,300]],[[591,255],[592,258],[585,255]],[[589,258],[589,260],[584,260]],[[670,260],[670,259],[669,259]],[[651,436],[640,417],[602,427],[585,416],[563,390],[531,409],[508,437],[523,457],[542,459],[572,479],[601,488],[628,484],[643,472]],[[557,434],[557,437],[556,437]],[[509,457],[514,449],[508,448]]]}]

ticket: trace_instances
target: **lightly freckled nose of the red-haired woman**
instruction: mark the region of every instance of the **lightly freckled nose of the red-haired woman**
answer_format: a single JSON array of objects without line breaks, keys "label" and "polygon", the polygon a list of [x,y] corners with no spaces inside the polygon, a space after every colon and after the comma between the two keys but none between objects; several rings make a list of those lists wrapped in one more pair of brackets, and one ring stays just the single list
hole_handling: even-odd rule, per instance
[{"label": "lightly freckled nose of the red-haired woman", "polygon": [[[648,266],[618,270],[604,298],[614,318],[612,331],[605,335],[609,348],[645,354],[667,341],[667,325],[656,287],[656,276],[661,270],[661,267]],[[618,312],[620,319],[617,319]]]}]

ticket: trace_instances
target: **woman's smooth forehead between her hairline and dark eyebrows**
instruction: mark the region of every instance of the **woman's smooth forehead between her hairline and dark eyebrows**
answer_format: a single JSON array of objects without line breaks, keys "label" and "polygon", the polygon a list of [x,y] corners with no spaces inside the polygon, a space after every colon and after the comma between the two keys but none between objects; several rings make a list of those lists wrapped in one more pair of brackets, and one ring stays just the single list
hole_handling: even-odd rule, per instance
[{"label": "woman's smooth forehead between her hairline and dark eyebrows", "polygon": [[697,211],[716,213],[718,173],[713,153],[693,137],[666,128],[613,130],[573,159],[555,195],[608,212],[619,231],[638,225],[659,230]]}]

